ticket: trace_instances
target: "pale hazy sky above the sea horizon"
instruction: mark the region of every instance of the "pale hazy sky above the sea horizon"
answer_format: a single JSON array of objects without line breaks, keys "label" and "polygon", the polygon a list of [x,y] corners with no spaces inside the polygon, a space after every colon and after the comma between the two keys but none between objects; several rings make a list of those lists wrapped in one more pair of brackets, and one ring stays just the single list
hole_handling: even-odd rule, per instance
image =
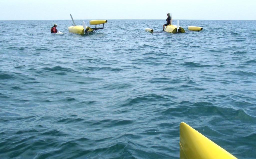
[{"label": "pale hazy sky above the sea horizon", "polygon": [[0,20],[256,20],[255,0],[0,0]]}]

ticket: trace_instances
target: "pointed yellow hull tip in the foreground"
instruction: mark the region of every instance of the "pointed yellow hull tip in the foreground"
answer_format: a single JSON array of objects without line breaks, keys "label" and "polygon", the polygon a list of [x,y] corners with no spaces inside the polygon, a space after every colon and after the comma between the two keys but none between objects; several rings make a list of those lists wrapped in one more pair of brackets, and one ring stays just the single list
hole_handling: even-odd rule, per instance
[{"label": "pointed yellow hull tip in the foreground", "polygon": [[180,159],[237,159],[186,123],[179,129]]}]

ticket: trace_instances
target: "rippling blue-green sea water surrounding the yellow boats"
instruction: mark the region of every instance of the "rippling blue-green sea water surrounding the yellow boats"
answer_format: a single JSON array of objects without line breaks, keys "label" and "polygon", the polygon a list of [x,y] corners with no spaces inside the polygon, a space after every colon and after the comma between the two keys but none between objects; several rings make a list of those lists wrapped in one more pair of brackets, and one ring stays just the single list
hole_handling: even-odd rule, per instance
[{"label": "rippling blue-green sea water surrounding the yellow boats", "polygon": [[0,158],[179,158],[180,122],[255,158],[256,21],[164,23],[0,21]]}]

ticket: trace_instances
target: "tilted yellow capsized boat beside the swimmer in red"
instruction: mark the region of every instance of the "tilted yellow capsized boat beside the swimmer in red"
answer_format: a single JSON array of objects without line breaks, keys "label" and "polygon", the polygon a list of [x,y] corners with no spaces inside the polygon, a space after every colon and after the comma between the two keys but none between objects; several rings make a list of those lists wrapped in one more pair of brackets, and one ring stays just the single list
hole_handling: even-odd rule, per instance
[{"label": "tilted yellow capsized boat beside the swimmer in red", "polygon": [[[90,20],[89,21],[90,25],[95,25],[95,28],[91,28],[91,27],[86,26],[84,21],[83,21],[82,26],[77,26],[76,23],[74,22],[74,19],[71,14],[70,14],[70,17],[73,21],[74,26],[68,27],[68,31],[71,33],[77,33],[77,34],[81,34],[81,35],[93,33],[96,30],[103,29],[104,23],[108,22],[108,20]],[[103,24],[103,26],[101,28],[97,28],[97,25],[99,25],[99,24]]]}]

